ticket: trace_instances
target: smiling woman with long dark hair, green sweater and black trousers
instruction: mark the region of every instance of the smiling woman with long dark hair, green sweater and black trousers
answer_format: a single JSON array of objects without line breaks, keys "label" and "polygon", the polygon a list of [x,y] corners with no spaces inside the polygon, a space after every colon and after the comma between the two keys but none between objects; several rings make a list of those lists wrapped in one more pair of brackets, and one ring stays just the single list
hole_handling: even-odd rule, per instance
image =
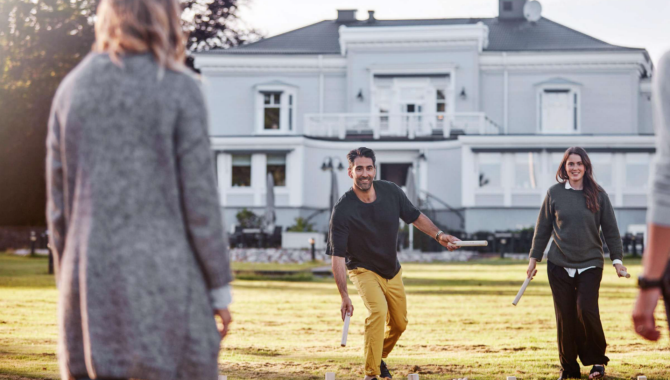
[{"label": "smiling woman with long dark hair, green sweater and black trousers", "polygon": [[605,356],[607,343],[598,310],[605,261],[600,230],[619,276],[626,270],[621,261],[621,237],[612,204],[593,178],[584,149],[565,151],[556,181],[547,191],[537,219],[527,274],[535,276],[537,262],[542,261],[553,237],[547,273],[558,327],[559,380],[581,378],[577,357],[583,365],[593,365],[589,379],[602,378],[609,358]]}]

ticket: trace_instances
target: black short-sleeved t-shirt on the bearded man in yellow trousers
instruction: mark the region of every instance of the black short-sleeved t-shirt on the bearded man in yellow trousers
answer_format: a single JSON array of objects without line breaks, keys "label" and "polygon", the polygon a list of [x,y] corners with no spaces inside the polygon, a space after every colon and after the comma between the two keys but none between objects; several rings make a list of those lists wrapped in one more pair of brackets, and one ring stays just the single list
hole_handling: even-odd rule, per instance
[{"label": "black short-sleeved t-shirt on the bearded man in yellow trousers", "polygon": [[347,268],[365,268],[392,279],[400,271],[396,243],[399,219],[413,223],[421,212],[393,182],[374,181],[377,199],[364,203],[353,188],[335,205],[329,254],[346,258]]}]

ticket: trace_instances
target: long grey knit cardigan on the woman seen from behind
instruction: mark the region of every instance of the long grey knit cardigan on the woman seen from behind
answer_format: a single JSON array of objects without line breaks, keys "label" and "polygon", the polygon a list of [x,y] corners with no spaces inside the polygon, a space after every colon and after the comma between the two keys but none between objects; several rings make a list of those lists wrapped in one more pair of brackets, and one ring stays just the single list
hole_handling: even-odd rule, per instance
[{"label": "long grey knit cardigan on the woman seen from behind", "polygon": [[149,54],[89,54],[47,137],[61,377],[216,379],[208,289],[231,281],[207,111]]}]

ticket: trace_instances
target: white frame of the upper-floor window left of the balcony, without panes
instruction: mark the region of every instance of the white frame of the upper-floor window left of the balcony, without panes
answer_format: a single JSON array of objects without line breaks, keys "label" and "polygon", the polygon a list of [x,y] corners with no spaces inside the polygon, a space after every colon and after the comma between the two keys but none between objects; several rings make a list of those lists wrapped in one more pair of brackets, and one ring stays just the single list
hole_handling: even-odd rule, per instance
[{"label": "white frame of the upper-floor window left of the balcony, without panes", "polygon": [[[280,92],[279,106],[279,129],[265,129],[265,98],[268,92]],[[256,96],[256,134],[259,135],[285,135],[297,134],[298,120],[298,89],[291,85],[258,85],[255,86]],[[289,96],[292,104],[289,105]],[[291,128],[289,128],[289,108],[291,109]]]}]

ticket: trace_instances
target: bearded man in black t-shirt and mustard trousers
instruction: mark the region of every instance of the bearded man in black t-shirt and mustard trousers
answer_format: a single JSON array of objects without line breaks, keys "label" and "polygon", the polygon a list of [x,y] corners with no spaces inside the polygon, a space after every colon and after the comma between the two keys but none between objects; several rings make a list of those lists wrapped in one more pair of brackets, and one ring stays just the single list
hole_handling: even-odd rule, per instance
[{"label": "bearded man in black t-shirt and mustard trousers", "polygon": [[[345,273],[368,309],[365,319],[365,380],[391,374],[382,358],[393,350],[407,327],[407,302],[396,242],[399,219],[448,245],[459,239],[440,231],[396,184],[375,181],[375,154],[354,149],[347,155],[353,187],[337,202],[330,220],[329,254],[342,296],[342,319],[353,315]],[[345,269],[346,267],[346,269]],[[386,331],[385,331],[386,330]]]}]

